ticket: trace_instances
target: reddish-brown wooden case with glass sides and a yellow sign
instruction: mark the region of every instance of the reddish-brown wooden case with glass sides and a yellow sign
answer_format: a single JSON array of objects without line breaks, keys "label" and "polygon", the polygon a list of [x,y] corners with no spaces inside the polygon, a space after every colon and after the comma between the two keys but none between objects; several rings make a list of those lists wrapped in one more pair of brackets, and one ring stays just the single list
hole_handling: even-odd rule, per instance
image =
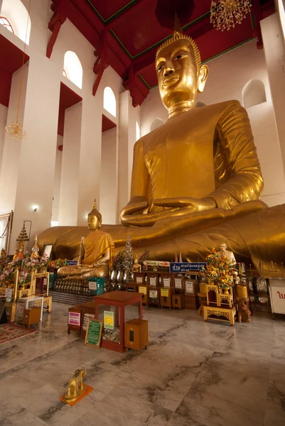
[{"label": "reddish-brown wooden case with glass sides and a yellow sign", "polygon": [[[102,315],[102,311],[104,313],[101,342],[101,346],[103,348],[112,349],[112,351],[117,352],[125,351],[124,309],[125,307],[134,305],[135,303],[139,303],[139,320],[142,320],[141,294],[127,291],[112,291],[110,293],[105,293],[104,295],[95,296],[95,318],[99,320],[100,315]],[[114,307],[114,312],[111,309],[112,307]],[[107,309],[109,309],[109,311]],[[116,329],[118,329],[118,336],[114,333]]]}]

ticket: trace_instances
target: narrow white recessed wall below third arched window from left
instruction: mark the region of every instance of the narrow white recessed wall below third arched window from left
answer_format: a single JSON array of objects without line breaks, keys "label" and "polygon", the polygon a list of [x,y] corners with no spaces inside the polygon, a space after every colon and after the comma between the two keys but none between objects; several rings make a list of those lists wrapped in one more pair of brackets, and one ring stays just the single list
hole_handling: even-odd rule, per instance
[{"label": "narrow white recessed wall below third arched window from left", "polygon": [[104,224],[117,224],[117,127],[102,133],[100,213]]}]

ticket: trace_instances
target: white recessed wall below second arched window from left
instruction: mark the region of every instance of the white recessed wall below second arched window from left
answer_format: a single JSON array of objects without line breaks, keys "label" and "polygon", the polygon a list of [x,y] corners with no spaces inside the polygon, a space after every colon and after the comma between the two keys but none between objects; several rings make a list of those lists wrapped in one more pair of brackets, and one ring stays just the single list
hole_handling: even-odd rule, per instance
[{"label": "white recessed wall below second arched window from left", "polygon": [[65,109],[63,160],[60,177],[60,226],[77,225],[82,102]]}]

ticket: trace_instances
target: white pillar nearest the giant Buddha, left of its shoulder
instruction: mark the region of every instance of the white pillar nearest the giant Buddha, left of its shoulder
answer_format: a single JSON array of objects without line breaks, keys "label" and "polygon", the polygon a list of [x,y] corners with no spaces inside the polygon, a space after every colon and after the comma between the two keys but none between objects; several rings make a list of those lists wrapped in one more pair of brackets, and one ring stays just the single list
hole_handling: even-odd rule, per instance
[{"label": "white pillar nearest the giant Buddha, left of its shoulder", "polygon": [[138,123],[140,128],[140,107],[134,108],[132,106],[129,90],[119,96],[118,199],[120,212],[129,202],[134,144],[139,139],[139,135],[136,132],[136,123]]}]

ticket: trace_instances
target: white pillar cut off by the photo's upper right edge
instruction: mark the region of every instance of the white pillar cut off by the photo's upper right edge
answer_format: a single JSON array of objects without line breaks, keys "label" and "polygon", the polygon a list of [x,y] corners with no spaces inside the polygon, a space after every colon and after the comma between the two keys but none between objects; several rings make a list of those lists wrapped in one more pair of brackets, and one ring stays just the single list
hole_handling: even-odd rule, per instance
[{"label": "white pillar cut off by the photo's upper right edge", "polygon": [[285,45],[278,13],[263,19],[261,28],[276,128],[285,166]]}]

